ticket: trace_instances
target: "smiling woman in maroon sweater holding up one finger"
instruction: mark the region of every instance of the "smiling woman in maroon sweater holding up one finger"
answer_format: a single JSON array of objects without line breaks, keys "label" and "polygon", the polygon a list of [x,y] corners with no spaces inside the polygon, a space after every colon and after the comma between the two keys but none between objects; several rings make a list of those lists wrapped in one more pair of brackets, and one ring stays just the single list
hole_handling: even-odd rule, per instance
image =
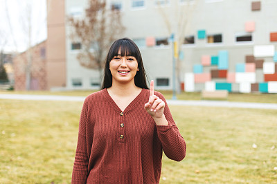
[{"label": "smiling woman in maroon sweater holding up one finger", "polygon": [[181,161],[186,143],[153,81],[148,90],[139,48],[119,39],[102,90],[84,101],[72,183],[159,183],[162,151]]}]

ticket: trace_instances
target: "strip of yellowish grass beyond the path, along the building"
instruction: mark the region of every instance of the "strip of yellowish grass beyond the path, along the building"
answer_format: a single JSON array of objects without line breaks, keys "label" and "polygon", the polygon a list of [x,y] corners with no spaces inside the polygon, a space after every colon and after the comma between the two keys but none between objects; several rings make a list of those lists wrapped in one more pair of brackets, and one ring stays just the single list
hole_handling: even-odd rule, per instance
[{"label": "strip of yellowish grass beyond the path, along the building", "polygon": [[[74,90],[64,92],[47,92],[47,91],[0,91],[0,94],[47,94],[47,95],[66,95],[66,96],[87,96],[96,90]],[[172,99],[171,91],[160,91],[166,99]],[[202,100],[200,92],[181,92],[177,94],[179,100]],[[213,99],[211,99],[213,100]],[[219,99],[214,99],[219,100]],[[277,94],[260,94],[260,93],[229,93],[226,101],[240,102],[258,102],[258,103],[277,103]]]}]

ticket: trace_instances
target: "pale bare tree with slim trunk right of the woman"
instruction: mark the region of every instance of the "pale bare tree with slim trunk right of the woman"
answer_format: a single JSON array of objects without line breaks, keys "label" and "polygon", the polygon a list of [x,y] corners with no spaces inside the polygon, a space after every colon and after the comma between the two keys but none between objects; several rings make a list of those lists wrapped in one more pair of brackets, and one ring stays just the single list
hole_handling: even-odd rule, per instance
[{"label": "pale bare tree with slim trunk right of the woman", "polygon": [[[163,17],[168,34],[175,35],[175,44],[177,49],[175,52],[178,53],[175,66],[178,93],[181,92],[181,59],[179,53],[181,52],[181,45],[184,43],[186,34],[188,34],[190,20],[192,19],[194,12],[193,10],[195,10],[198,1],[199,0],[184,0],[184,3],[186,3],[184,6],[179,6],[179,2],[175,1],[175,8],[173,9],[175,12],[166,12],[165,9],[161,6],[161,1],[157,0],[157,4],[159,5],[159,12]],[[170,16],[170,14],[173,16]]]}]

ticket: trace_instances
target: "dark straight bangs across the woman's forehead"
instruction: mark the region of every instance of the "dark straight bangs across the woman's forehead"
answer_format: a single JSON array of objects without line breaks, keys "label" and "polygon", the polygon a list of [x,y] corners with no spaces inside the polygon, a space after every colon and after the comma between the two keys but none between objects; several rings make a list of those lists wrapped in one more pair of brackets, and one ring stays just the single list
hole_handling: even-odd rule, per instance
[{"label": "dark straight bangs across the woman's forehead", "polygon": [[122,57],[132,56],[135,57],[137,60],[139,59],[139,48],[137,48],[135,43],[131,43],[130,41],[126,40],[117,41],[110,52],[109,58],[112,59],[118,56],[119,50]]}]

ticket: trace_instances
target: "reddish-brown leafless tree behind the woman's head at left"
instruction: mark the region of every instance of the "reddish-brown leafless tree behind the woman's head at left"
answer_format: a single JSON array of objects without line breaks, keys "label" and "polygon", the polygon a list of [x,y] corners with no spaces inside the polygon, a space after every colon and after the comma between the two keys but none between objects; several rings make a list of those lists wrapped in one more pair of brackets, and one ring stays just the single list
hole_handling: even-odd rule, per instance
[{"label": "reddish-brown leafless tree behind the woman's head at left", "polygon": [[83,19],[69,17],[73,28],[72,41],[80,41],[82,49],[77,59],[84,68],[97,69],[102,78],[106,52],[112,41],[123,34],[120,10],[107,7],[105,0],[89,0]]}]

